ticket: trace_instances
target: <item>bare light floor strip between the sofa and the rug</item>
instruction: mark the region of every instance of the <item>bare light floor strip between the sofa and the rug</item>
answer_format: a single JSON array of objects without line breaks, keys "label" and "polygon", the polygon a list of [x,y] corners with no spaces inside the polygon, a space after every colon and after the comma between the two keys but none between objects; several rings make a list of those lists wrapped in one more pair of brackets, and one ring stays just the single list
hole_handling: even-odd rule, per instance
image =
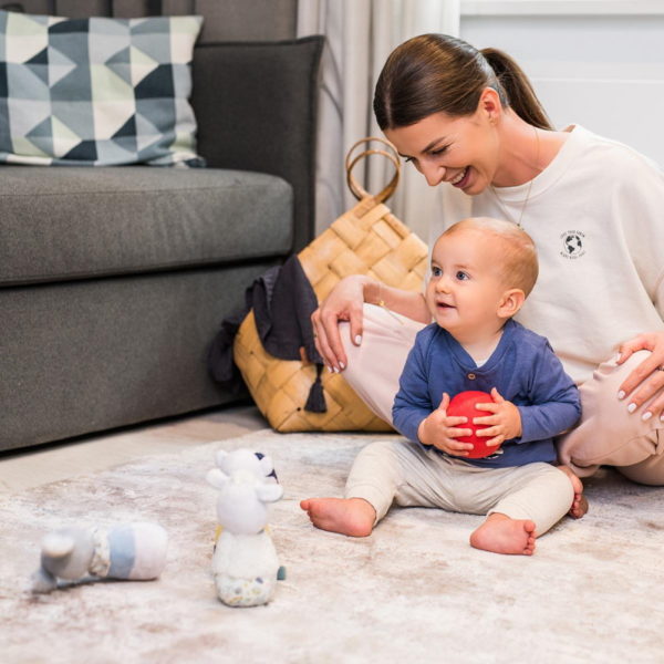
[{"label": "bare light floor strip between the sofa and the rug", "polygon": [[266,428],[255,406],[231,406],[118,432],[85,436],[0,455],[0,495],[104,470],[159,453]]}]

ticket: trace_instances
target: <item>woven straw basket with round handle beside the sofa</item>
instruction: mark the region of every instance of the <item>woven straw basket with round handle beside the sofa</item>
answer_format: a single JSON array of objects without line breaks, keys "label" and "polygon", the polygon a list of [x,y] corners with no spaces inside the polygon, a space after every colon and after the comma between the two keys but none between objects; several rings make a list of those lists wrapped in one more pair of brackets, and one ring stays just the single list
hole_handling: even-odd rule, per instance
[{"label": "woven straw basket with round handle beside the sofa", "polygon": [[[364,149],[353,157],[357,146],[371,141],[383,143],[390,152]],[[352,174],[360,159],[373,154],[383,155],[395,167],[392,180],[376,195],[365,191]],[[405,290],[422,289],[427,264],[426,245],[383,204],[396,188],[400,166],[396,149],[382,138],[363,138],[350,149],[345,162],[346,180],[359,203],[299,253],[319,302],[349,274],[369,274]],[[321,376],[326,413],[304,411],[317,376],[315,365],[269,355],[256,331],[252,311],[240,325],[234,355],[253,401],[279,432],[392,430],[364,405],[344,381],[343,373],[324,371]]]}]

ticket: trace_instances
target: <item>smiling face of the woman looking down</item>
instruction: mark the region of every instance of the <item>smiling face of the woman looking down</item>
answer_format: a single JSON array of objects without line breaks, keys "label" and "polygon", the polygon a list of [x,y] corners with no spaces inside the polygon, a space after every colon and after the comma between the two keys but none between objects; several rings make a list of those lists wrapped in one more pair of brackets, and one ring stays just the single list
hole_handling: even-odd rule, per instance
[{"label": "smiling face of the woman looking down", "polygon": [[449,183],[474,196],[495,178],[498,134],[481,101],[473,115],[436,113],[413,125],[386,129],[385,136],[432,187]]}]

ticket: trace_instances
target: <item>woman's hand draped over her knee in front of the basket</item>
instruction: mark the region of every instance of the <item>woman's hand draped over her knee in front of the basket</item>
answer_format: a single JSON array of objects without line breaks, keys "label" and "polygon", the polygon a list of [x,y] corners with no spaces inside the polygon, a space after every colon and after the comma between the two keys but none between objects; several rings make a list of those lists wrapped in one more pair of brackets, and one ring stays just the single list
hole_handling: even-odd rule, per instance
[{"label": "woman's hand draped over her knee in front of the basket", "polygon": [[362,343],[362,307],[367,283],[369,278],[362,274],[342,279],[311,314],[315,347],[330,371],[339,373],[347,365],[339,321],[350,321],[351,342],[355,345]]}]

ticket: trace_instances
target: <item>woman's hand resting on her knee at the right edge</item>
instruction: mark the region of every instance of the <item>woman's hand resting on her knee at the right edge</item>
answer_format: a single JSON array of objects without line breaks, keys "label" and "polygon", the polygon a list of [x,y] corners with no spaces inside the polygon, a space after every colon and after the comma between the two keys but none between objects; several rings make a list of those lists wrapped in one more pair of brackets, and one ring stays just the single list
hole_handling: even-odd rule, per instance
[{"label": "woman's hand resting on her knee at the right edge", "polygon": [[[645,402],[657,395],[641,414],[643,419],[660,415],[664,411],[664,332],[640,334],[620,346],[618,364],[622,364],[636,351],[651,354],[627,376],[620,386],[618,398],[629,398],[627,409],[634,413]],[[637,388],[637,390],[636,390]],[[634,392],[636,390],[636,392]]]}]

